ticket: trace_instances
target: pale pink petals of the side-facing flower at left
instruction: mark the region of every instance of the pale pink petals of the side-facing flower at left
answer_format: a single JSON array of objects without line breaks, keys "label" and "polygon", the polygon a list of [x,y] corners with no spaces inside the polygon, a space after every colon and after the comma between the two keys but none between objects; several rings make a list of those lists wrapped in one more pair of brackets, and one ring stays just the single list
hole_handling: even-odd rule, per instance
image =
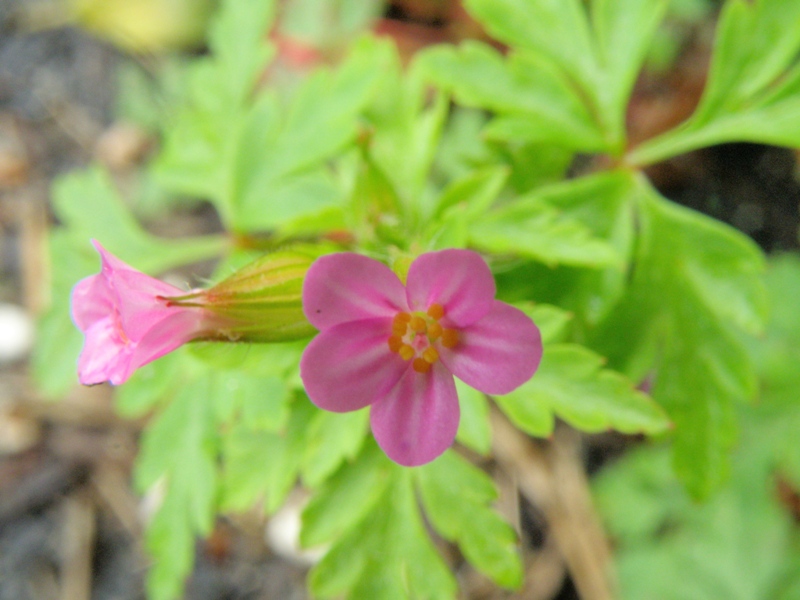
[{"label": "pale pink petals of the side-facing flower at left", "polygon": [[198,307],[173,306],[185,291],[128,266],[93,242],[100,273],[72,290],[72,318],[86,339],[78,359],[84,385],[124,383],[147,363],[198,337],[213,316]]}]

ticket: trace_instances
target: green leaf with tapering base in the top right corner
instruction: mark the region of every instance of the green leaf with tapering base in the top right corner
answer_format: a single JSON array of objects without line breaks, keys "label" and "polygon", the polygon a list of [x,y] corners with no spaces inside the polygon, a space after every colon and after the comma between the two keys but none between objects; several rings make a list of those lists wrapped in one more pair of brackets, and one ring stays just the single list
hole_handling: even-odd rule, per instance
[{"label": "green leaf with tapering base in the top right corner", "polygon": [[786,23],[798,19],[800,5],[792,0],[727,2],[697,110],[683,126],[636,148],[629,162],[651,164],[725,142],[797,146],[800,31]]}]

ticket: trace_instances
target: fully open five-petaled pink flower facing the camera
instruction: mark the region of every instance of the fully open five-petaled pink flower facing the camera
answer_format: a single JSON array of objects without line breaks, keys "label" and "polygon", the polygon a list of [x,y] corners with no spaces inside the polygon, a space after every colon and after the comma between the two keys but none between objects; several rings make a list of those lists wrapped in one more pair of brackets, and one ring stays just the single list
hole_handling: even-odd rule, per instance
[{"label": "fully open five-petaled pink flower facing the camera", "polygon": [[539,366],[539,329],[494,296],[489,267],[469,250],[421,255],[405,286],[365,256],[321,257],[303,285],[306,317],[320,330],[300,362],[309,397],[333,412],[371,406],[389,458],[430,462],[458,430],[453,375],[506,394]]}]

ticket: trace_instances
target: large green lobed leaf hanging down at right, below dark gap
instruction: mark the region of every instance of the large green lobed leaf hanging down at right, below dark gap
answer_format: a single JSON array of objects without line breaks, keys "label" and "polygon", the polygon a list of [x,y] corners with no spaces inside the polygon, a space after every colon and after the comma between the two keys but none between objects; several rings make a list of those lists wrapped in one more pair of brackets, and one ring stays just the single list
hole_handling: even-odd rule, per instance
[{"label": "large green lobed leaf hanging down at right, below dark gap", "polygon": [[763,322],[763,257],[744,235],[642,188],[636,269],[593,347],[636,380],[675,423],[675,468],[705,496],[726,473],[733,402],[755,375],[742,330]]}]

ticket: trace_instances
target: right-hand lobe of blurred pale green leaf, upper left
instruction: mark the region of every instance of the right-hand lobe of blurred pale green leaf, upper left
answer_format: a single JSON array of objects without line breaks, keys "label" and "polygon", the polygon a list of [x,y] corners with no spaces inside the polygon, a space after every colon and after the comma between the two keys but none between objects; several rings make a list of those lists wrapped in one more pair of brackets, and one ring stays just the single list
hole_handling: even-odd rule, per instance
[{"label": "right-hand lobe of blurred pale green leaf, upper left", "polygon": [[304,81],[285,109],[274,101],[256,104],[234,166],[237,227],[291,227],[299,218],[343,208],[343,191],[325,163],[355,139],[357,116],[388,56],[387,44],[364,38],[336,71],[318,70]]}]

